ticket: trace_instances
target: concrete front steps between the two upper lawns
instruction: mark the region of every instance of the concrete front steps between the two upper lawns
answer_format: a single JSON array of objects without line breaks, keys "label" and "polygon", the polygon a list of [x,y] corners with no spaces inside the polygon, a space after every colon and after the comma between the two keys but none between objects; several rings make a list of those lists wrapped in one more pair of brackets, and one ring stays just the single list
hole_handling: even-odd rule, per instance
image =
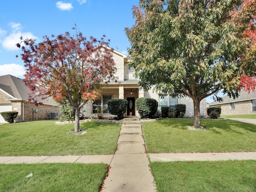
[{"label": "concrete front steps between the two upper lawns", "polygon": [[139,118],[124,118],[118,144],[144,144]]}]

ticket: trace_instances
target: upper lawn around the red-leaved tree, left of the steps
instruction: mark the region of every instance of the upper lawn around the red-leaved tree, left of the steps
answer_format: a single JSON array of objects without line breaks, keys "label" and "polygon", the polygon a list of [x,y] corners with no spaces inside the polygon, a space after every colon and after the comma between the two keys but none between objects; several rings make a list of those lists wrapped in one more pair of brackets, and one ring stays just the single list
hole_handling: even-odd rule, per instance
[{"label": "upper lawn around the red-leaved tree, left of the steps", "polygon": [[120,124],[86,122],[83,135],[68,134],[74,124],[34,121],[0,125],[0,156],[113,154]]}]

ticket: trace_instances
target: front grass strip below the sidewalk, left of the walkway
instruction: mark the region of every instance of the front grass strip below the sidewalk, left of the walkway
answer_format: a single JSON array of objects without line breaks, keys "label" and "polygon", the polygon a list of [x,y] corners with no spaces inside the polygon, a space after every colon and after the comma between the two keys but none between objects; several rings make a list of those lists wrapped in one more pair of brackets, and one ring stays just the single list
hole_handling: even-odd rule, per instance
[{"label": "front grass strip below the sidewalk, left of the walkway", "polygon": [[0,191],[98,192],[107,170],[107,164],[0,164]]}]

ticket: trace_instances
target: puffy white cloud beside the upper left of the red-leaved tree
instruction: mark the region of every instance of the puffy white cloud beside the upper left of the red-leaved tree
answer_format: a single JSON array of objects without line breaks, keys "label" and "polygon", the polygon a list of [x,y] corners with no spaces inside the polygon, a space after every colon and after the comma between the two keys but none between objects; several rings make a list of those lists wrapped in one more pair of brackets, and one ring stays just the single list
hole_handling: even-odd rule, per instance
[{"label": "puffy white cloud beside the upper left of the red-leaved tree", "polygon": [[20,36],[22,36],[24,39],[28,38],[34,38],[34,39],[38,39],[36,36],[34,36],[31,32],[13,32],[12,34],[10,34],[9,36],[7,36],[6,38],[4,38],[4,40],[2,41],[2,46],[9,51],[15,51],[18,50],[19,48],[17,48],[16,44],[18,42],[20,42]]}]

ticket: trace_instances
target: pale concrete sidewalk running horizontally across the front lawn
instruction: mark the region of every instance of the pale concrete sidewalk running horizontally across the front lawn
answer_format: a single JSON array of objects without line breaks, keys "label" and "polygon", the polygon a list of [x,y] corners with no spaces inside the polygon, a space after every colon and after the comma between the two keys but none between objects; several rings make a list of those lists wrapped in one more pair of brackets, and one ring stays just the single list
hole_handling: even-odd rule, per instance
[{"label": "pale concrete sidewalk running horizontally across the front lawn", "polygon": [[[70,156],[0,156],[0,164],[36,164],[36,163],[106,163],[113,165],[117,158],[142,157],[140,150],[144,150],[141,144],[120,144],[119,152],[113,155],[70,155]],[[122,153],[127,148],[132,154]],[[116,159],[113,160],[114,156]],[[159,153],[148,154],[150,162],[168,161],[226,161],[226,160],[256,160],[256,152],[226,152],[226,153]],[[147,164],[148,165],[148,164]]]}]

